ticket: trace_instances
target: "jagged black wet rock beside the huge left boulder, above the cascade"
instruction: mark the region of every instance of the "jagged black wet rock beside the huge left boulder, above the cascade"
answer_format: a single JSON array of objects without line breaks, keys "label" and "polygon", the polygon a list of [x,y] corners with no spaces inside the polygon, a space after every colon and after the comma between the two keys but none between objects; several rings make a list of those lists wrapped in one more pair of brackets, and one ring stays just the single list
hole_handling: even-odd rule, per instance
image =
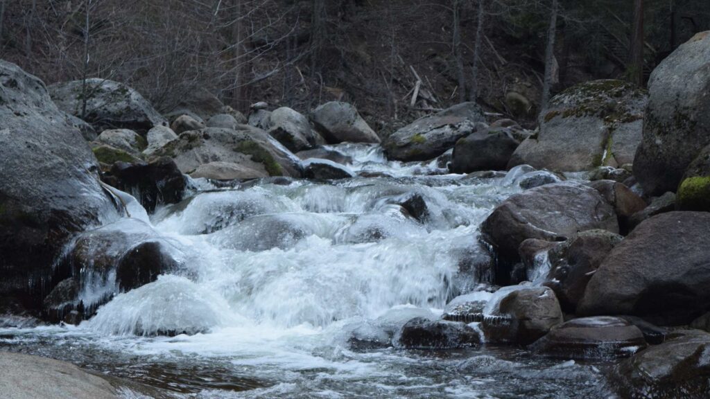
[{"label": "jagged black wet rock beside the huge left boulder, above the cascade", "polygon": [[168,157],[151,163],[114,163],[103,180],[136,197],[148,212],[153,212],[158,204],[180,202],[186,187],[185,177]]}]

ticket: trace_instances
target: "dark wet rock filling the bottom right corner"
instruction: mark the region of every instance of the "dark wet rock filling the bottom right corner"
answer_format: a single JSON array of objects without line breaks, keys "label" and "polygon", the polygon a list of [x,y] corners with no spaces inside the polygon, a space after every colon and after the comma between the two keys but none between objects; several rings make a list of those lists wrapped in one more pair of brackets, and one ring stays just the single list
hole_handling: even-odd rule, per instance
[{"label": "dark wet rock filling the bottom right corner", "polygon": [[710,334],[677,333],[622,361],[608,374],[623,398],[708,398]]}]

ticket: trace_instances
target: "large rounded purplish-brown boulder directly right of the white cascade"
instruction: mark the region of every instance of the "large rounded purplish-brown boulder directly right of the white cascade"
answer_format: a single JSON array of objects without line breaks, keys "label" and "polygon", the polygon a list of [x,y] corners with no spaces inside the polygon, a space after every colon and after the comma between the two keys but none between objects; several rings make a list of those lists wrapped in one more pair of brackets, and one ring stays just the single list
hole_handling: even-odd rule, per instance
[{"label": "large rounded purplish-brown boulder directly right of the white cascade", "polygon": [[526,239],[565,241],[592,229],[618,233],[611,204],[591,187],[555,183],[508,198],[481,224],[481,237],[497,255],[496,281],[507,284]]}]

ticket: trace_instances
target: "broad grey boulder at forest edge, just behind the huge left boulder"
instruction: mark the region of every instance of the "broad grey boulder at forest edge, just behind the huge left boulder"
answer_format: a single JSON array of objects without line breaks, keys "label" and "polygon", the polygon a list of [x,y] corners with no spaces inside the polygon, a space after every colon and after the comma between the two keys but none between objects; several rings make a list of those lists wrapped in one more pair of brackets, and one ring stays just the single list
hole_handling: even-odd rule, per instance
[{"label": "broad grey boulder at forest edge, just behind the huge left boulder", "polygon": [[85,88],[83,80],[73,80],[55,83],[49,90],[59,109],[84,119],[97,131],[131,129],[145,133],[155,126],[168,126],[148,100],[123,83],[90,78]]}]

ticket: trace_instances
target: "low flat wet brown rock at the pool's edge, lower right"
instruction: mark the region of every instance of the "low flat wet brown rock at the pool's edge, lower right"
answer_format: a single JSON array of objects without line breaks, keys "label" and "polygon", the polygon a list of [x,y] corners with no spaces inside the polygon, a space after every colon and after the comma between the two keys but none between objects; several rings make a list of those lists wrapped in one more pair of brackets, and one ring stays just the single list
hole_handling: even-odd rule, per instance
[{"label": "low flat wet brown rock at the pool's edge, lower right", "polygon": [[530,349],[562,359],[628,357],[646,347],[638,327],[619,317],[584,317],[552,328]]}]

